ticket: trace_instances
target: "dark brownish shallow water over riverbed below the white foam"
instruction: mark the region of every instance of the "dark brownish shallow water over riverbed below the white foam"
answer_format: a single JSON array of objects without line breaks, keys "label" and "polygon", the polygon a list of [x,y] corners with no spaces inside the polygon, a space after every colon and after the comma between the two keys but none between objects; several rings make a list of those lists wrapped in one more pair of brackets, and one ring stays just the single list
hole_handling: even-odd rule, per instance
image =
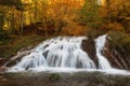
[{"label": "dark brownish shallow water over riverbed below the white foam", "polygon": [[0,86],[130,86],[130,75],[101,72],[1,73]]}]

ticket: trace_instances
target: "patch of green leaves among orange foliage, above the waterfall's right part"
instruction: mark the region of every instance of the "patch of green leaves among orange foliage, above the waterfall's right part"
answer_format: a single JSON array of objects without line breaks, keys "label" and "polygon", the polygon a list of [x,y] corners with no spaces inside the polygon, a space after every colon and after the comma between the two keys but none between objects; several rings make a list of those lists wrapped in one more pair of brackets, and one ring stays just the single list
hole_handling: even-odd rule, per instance
[{"label": "patch of green leaves among orange foliage, above the waterfall's right part", "polygon": [[84,5],[79,10],[79,20],[90,28],[98,28],[101,17],[99,16],[99,4],[95,0],[86,0]]}]

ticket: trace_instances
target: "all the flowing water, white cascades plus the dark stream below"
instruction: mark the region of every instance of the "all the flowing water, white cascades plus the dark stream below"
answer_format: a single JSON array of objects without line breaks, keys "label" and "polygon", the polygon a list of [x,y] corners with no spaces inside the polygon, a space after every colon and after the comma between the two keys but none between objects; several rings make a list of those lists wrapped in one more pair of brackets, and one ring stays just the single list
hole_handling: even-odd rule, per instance
[{"label": "all the flowing water, white cascades plus the dark stream below", "polygon": [[0,73],[0,86],[130,86],[130,72],[103,56],[106,38],[94,40],[98,62],[82,51],[86,37],[47,40]]}]

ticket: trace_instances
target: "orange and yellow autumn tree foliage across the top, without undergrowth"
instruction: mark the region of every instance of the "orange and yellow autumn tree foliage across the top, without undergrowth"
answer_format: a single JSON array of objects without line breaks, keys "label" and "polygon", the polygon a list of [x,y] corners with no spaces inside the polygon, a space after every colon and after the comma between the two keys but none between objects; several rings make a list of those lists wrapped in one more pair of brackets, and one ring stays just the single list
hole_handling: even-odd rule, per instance
[{"label": "orange and yellow autumn tree foliage across the top, without undergrowth", "polygon": [[[130,1],[14,0],[0,5],[0,39],[35,25],[43,34],[86,34],[88,29],[130,32]],[[36,30],[35,30],[36,31]]]}]

